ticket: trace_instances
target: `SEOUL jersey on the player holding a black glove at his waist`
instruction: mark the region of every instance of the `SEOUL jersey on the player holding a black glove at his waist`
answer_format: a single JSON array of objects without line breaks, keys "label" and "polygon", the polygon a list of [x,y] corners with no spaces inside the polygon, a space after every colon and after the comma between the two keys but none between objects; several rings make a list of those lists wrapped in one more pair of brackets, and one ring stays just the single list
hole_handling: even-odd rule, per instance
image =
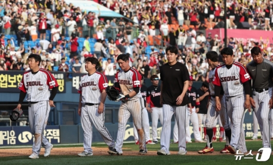
[{"label": "SEOUL jersey on the player holding a black glove at his waist", "polygon": [[[124,96],[128,95],[130,92],[134,90],[135,87],[141,86],[141,75],[140,73],[134,69],[130,68],[128,71],[119,71],[117,72],[115,76],[115,81],[118,82],[120,85],[120,93]],[[139,92],[137,93],[136,96],[129,98],[130,99],[137,99],[137,98],[142,98],[142,95]]]}]

